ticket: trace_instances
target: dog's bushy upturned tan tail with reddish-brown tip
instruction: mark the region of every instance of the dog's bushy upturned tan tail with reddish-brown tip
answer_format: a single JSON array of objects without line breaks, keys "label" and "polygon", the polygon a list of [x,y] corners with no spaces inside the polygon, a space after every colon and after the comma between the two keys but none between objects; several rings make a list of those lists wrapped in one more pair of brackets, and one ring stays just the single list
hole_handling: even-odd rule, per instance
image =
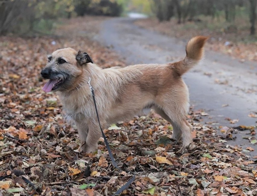
[{"label": "dog's bushy upturned tan tail with reddish-brown tip", "polygon": [[194,65],[196,65],[203,56],[203,46],[208,37],[196,36],[193,37],[186,44],[186,57],[175,63],[170,63],[170,65],[176,70],[179,75],[183,75]]}]

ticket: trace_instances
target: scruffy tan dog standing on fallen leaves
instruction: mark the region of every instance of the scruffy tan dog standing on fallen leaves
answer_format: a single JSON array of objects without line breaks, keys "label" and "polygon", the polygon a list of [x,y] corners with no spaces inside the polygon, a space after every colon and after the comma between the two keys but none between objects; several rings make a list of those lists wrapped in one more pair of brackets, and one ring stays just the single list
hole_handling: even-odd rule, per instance
[{"label": "scruffy tan dog standing on fallen leaves", "polygon": [[48,56],[49,62],[41,72],[49,79],[43,90],[58,92],[65,119],[78,127],[81,148],[86,153],[97,149],[101,137],[89,78],[103,128],[152,108],[172,124],[172,138],[182,137],[186,147],[192,143],[192,125],[186,120],[189,92],[181,76],[201,60],[206,40],[203,36],[189,40],[186,57],[179,62],[124,68],[102,69],[85,52],[56,50]]}]

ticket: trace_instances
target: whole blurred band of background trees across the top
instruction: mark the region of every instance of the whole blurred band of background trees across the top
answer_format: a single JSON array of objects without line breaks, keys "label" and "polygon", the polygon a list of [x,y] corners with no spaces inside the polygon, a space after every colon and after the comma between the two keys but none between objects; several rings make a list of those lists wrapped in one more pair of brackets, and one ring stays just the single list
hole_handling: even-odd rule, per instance
[{"label": "whole blurred band of background trees across the top", "polygon": [[236,28],[236,17],[249,21],[255,34],[257,0],[0,0],[0,34],[51,29],[57,18],[141,12],[160,22],[177,18],[177,23],[201,22],[204,16],[224,18]]}]

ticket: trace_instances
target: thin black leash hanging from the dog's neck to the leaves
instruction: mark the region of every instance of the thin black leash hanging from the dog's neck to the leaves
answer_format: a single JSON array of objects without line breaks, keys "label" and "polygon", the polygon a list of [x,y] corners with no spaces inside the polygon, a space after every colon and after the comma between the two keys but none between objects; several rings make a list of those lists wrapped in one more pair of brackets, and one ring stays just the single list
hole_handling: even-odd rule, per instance
[{"label": "thin black leash hanging from the dog's neck to the leaves", "polygon": [[[91,93],[92,93],[92,97],[93,97],[93,101],[94,101],[94,105],[95,105],[95,109],[96,109],[96,114],[97,114],[97,120],[98,120],[98,123],[99,123],[99,127],[101,129],[101,132],[102,132],[102,135],[103,135],[103,139],[104,139],[104,142],[106,144],[106,148],[109,152],[109,156],[111,158],[111,161],[113,163],[113,166],[116,167],[117,169],[119,170],[122,170],[124,171],[123,169],[120,169],[118,167],[118,165],[116,164],[114,158],[113,158],[113,154],[112,154],[112,151],[110,149],[110,146],[109,146],[109,143],[103,133],[103,130],[102,130],[102,127],[101,127],[101,124],[100,124],[100,120],[99,120],[99,115],[98,115],[98,112],[97,112],[97,106],[96,106],[96,100],[95,100],[95,94],[94,94],[94,89],[93,87],[90,85],[90,82],[91,82],[91,78],[89,78],[89,81],[87,82],[89,84],[89,87],[90,87],[90,90],[91,90]],[[115,195],[119,195],[123,190],[125,190],[126,188],[128,188],[128,186],[135,180],[135,175],[132,174],[132,178],[125,184],[123,185],[118,191],[116,191]]]}]

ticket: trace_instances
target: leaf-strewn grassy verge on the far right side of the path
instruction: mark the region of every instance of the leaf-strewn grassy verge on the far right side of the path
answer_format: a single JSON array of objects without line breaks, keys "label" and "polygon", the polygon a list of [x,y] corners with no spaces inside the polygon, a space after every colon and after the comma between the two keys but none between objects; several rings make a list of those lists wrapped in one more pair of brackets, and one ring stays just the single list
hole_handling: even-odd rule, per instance
[{"label": "leaf-strewn grassy verge on the far right side of the path", "polygon": [[209,36],[206,48],[225,53],[233,58],[257,61],[257,35],[249,35],[249,19],[236,18],[234,23],[228,23],[220,18],[200,17],[200,22],[177,24],[177,19],[159,22],[156,18],[140,19],[135,22],[140,27],[158,31],[165,35],[188,40],[196,35]]}]

